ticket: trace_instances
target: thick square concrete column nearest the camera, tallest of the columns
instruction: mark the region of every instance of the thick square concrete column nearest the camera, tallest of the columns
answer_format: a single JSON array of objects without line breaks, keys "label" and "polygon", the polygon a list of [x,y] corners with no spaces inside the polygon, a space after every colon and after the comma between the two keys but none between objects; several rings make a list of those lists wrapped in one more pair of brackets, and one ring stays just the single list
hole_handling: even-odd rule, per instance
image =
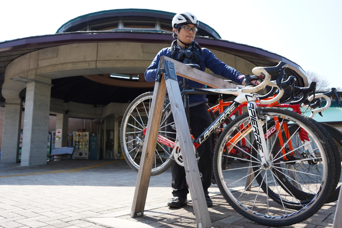
[{"label": "thick square concrete column nearest the camera, tallest of the columns", "polygon": [[35,79],[26,85],[21,166],[45,165],[47,158],[51,79]]}]

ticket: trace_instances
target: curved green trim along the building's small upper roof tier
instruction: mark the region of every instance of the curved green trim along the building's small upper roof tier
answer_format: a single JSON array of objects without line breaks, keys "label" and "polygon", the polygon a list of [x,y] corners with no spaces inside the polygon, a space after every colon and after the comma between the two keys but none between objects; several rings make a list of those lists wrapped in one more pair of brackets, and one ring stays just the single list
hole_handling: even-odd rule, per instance
[{"label": "curved green trim along the building's small upper roof tier", "polygon": [[[64,23],[60,28],[57,29],[56,33],[60,33],[60,30],[67,26],[68,24],[71,24],[73,22],[77,22],[83,18],[87,18],[87,17],[91,17],[91,16],[95,16],[95,15],[101,15],[101,14],[108,14],[108,13],[119,13],[119,12],[145,12],[147,14],[155,14],[155,13],[161,13],[161,14],[165,14],[165,15],[169,15],[169,16],[174,16],[176,13],[171,13],[171,12],[167,12],[167,11],[161,11],[161,10],[149,10],[149,9],[115,9],[115,10],[103,10],[103,11],[98,11],[98,12],[94,12],[94,13],[89,13],[89,14],[84,14],[82,16],[78,16],[75,17],[74,19],[69,20],[68,22]],[[132,16],[134,16],[134,14],[132,14]],[[156,18],[157,19],[157,18]],[[210,29],[213,33],[215,33],[219,39],[222,39],[221,36],[219,35],[218,32],[216,32],[212,27],[210,27],[209,25],[199,21],[201,26],[207,27],[208,29]],[[171,24],[171,22],[170,22]]]}]

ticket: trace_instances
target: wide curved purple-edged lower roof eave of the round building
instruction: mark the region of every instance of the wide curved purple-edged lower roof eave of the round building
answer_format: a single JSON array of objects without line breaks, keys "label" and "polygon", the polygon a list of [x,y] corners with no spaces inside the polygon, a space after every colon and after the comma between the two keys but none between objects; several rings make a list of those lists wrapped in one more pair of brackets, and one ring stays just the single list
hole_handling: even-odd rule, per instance
[{"label": "wide curved purple-edged lower roof eave of the round building", "polygon": [[[162,44],[164,46],[168,46],[169,44],[171,44],[172,40],[173,40],[172,36],[170,35],[170,33],[167,33],[167,32],[104,31],[104,32],[67,32],[67,33],[28,37],[28,38],[0,42],[0,86],[2,88],[2,84],[4,82],[5,69],[6,69],[6,66],[8,66],[8,64],[10,64],[14,59],[20,56],[23,56],[31,52],[35,52],[37,50],[52,48],[54,46],[64,46],[64,45],[73,45],[73,44],[93,44],[93,43],[107,43],[108,44],[108,43],[115,43],[115,42],[151,43],[151,44]],[[264,49],[255,48],[253,46],[235,43],[235,42],[231,42],[227,40],[206,38],[206,37],[196,37],[195,40],[203,48],[208,48],[208,49],[211,49],[212,51],[218,50],[221,52],[228,53],[230,55],[240,57],[252,63],[252,65],[255,65],[255,66],[274,66],[279,61],[285,61],[289,65],[287,73],[288,75],[293,75],[298,79],[297,85],[307,86],[308,84],[306,74],[302,70],[302,68],[298,64],[293,63],[292,61],[290,61],[289,59],[286,59],[283,56],[266,51]],[[146,66],[144,65],[145,67],[144,69],[146,69],[149,63],[146,62],[144,64],[146,65]],[[140,74],[143,72],[144,70],[140,69],[140,71],[137,73]],[[106,73],[112,73],[112,72],[106,72]],[[115,72],[115,73],[122,73],[122,72]],[[134,72],[128,72],[128,73],[134,73]],[[92,74],[94,74],[94,72],[88,73],[88,75],[92,75]],[[84,76],[86,75],[87,74],[80,73],[79,77],[81,78],[73,77],[72,80],[82,80],[83,82]],[[41,75],[41,76],[44,76],[44,75]],[[93,76],[88,76],[88,77],[94,78]],[[104,78],[100,78],[100,79],[102,81],[106,80]],[[57,80],[57,79],[54,79],[54,80]],[[58,79],[58,80],[63,80],[63,79]],[[68,79],[68,81],[70,80],[71,79]],[[102,81],[101,82],[98,81],[98,82],[103,83]],[[65,85],[67,81],[65,82],[54,81],[52,84],[56,84],[56,83]],[[136,82],[135,84],[137,84],[134,86],[135,88],[137,88],[136,90],[134,90],[136,93],[147,92],[145,90],[150,91],[152,88],[152,86],[149,85],[150,83],[146,83],[143,81]],[[144,86],[140,86],[141,88],[139,88],[138,84],[141,84],[141,85],[144,84]],[[99,85],[99,86],[100,87],[98,90],[102,91],[102,89],[100,88],[102,88],[103,86],[109,86],[109,85],[107,83],[103,83],[102,85]],[[6,88],[8,89],[8,87]],[[19,89],[20,91],[20,88],[15,88],[15,89],[16,90]],[[112,91],[116,90],[117,92],[121,91],[121,93],[125,91],[123,86],[116,86],[115,90],[113,89],[111,90]],[[14,93],[15,91],[7,91],[7,92]],[[25,91],[20,92],[21,97],[24,96],[24,92]],[[131,94],[131,96],[134,96],[134,95],[136,94]],[[132,100],[131,98],[127,98],[127,99]],[[68,101],[69,99],[66,100],[66,102]],[[0,97],[0,102],[4,102],[3,97]],[[115,102],[118,102],[118,101],[115,101]]]}]

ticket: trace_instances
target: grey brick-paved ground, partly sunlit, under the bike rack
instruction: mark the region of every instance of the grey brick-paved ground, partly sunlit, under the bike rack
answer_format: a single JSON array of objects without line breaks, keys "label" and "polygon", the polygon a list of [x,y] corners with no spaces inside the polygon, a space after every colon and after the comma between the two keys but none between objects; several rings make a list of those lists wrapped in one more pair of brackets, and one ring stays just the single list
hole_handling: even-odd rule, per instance
[{"label": "grey brick-paved ground, partly sunlit, under the bike rack", "polygon": [[[137,173],[124,160],[48,161],[47,165],[0,165],[2,228],[196,227],[192,203],[166,206],[172,198],[170,170],[151,177],[144,216],[131,218]],[[269,228],[230,207],[216,185],[209,189],[212,227]],[[189,198],[190,199],[190,195]],[[294,228],[332,227],[336,203],[325,204]]]}]

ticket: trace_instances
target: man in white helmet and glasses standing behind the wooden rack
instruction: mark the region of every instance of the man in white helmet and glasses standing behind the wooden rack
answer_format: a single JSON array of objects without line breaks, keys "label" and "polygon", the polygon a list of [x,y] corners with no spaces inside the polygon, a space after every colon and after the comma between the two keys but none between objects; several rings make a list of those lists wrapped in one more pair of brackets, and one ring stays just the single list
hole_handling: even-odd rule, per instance
[{"label": "man in white helmet and glasses standing behind the wooden rack", "polygon": [[[244,75],[229,67],[206,48],[201,48],[194,41],[198,20],[195,15],[189,12],[176,14],[172,19],[173,37],[170,48],[164,48],[154,58],[152,64],[145,71],[145,80],[153,82],[156,79],[156,73],[160,56],[167,56],[182,63],[197,64],[200,70],[205,71],[208,67],[217,75],[228,78],[239,84],[244,83]],[[178,81],[183,81],[182,77],[177,76]],[[189,86],[194,88],[204,88],[203,84],[188,80]],[[193,95],[189,97],[189,120],[192,134],[197,138],[210,124],[210,117],[207,109],[207,99],[205,95]],[[173,117],[168,119],[173,122]],[[167,131],[174,131],[169,128]],[[202,174],[202,186],[205,193],[207,206],[212,206],[212,201],[208,195],[208,188],[211,185],[212,160],[214,153],[213,136],[208,138],[201,146],[197,148],[199,153],[198,169]],[[168,206],[178,208],[187,204],[187,194],[189,190],[186,186],[186,177],[184,167],[174,163],[171,166],[172,173],[172,195],[174,196]]]}]

